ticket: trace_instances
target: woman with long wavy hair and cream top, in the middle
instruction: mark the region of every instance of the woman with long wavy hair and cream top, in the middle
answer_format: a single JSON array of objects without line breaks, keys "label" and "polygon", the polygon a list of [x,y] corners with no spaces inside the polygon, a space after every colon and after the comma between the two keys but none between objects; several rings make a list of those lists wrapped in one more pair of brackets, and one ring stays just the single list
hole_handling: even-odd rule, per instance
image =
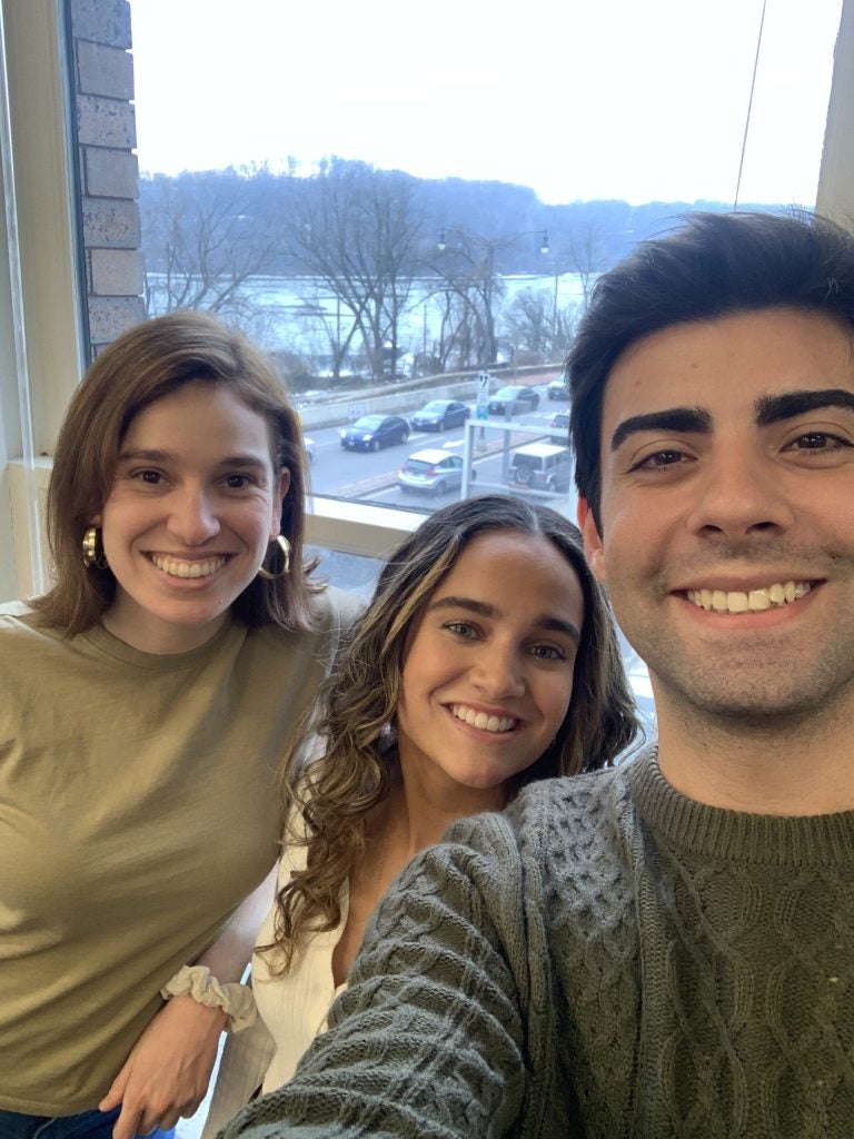
[{"label": "woman with long wavy hair and cream top, in the middle", "polygon": [[611,763],[637,736],[576,527],[504,495],[434,514],[392,555],[339,650],[320,732],[322,759],[287,781],[278,894],[253,959],[271,1040],[265,1051],[254,1034],[243,1072],[228,1055],[240,1038],[228,1043],[211,1131],[260,1084],[290,1077],[418,851],[531,780]]}]

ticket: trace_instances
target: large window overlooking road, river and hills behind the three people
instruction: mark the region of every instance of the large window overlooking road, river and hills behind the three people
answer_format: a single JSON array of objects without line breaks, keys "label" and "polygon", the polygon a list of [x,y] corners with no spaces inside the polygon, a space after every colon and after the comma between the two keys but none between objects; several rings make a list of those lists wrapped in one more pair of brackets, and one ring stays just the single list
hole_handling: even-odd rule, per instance
[{"label": "large window overlooking road, river and hills behind the three people", "polygon": [[149,311],[212,308],[278,357],[318,494],[411,508],[428,443],[507,489],[425,403],[474,415],[487,372],[477,437],[551,442],[602,269],[696,205],[815,202],[839,0],[441,0],[417,35],[387,0],[131,10]]}]

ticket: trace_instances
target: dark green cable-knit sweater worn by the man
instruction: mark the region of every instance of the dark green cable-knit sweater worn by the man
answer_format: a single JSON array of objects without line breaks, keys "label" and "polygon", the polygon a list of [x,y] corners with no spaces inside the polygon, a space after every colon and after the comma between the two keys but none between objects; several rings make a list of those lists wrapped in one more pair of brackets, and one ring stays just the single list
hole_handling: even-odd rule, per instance
[{"label": "dark green cable-knit sweater worn by the man", "polygon": [[249,1136],[854,1136],[854,812],[703,806],[648,752],[454,825]]}]

